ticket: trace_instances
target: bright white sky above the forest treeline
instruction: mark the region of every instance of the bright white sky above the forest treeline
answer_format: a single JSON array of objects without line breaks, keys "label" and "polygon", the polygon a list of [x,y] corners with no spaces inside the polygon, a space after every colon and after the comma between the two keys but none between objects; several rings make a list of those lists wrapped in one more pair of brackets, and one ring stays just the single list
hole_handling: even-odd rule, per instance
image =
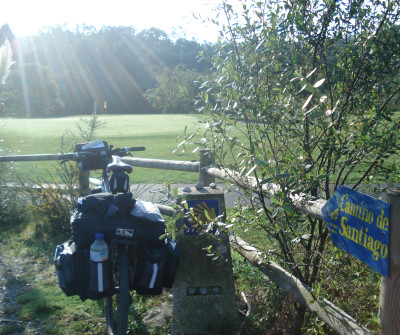
[{"label": "bright white sky above the forest treeline", "polygon": [[173,38],[215,42],[218,29],[193,18],[215,18],[218,0],[11,0],[2,4],[0,26],[8,23],[14,35],[34,35],[44,27],[86,24],[131,26],[137,31],[160,28]]}]

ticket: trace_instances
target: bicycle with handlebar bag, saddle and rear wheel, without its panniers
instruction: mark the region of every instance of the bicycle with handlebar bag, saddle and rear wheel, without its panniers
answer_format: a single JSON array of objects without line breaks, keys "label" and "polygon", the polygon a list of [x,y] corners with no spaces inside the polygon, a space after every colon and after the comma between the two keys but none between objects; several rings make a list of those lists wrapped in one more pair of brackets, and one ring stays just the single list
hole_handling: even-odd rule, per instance
[{"label": "bicycle with handlebar bag, saddle and rear wheel, without its panniers", "polygon": [[[90,178],[90,182],[97,186],[92,193],[128,194],[128,173],[132,172],[132,167],[123,163],[120,157],[129,155],[131,151],[143,150],[145,150],[144,147],[113,148],[110,146],[108,148],[106,142],[97,140],[79,144],[74,153],[61,155],[59,159],[62,159],[63,162],[75,160],[79,169],[83,171],[102,170],[101,181]],[[154,236],[161,233],[160,227],[157,227],[156,230],[153,234]],[[141,243],[140,229],[137,239],[126,239],[125,237],[129,234],[129,229],[124,230],[121,228],[120,235],[114,236],[115,238],[109,241],[111,243],[109,250],[112,281],[117,283],[115,290],[112,292],[114,294],[105,297],[106,329],[109,335],[120,335],[127,332],[128,309],[131,302],[130,288],[132,287],[132,278],[136,279],[134,277],[134,269],[138,245]],[[84,298],[86,298],[85,295],[83,296]]]}]

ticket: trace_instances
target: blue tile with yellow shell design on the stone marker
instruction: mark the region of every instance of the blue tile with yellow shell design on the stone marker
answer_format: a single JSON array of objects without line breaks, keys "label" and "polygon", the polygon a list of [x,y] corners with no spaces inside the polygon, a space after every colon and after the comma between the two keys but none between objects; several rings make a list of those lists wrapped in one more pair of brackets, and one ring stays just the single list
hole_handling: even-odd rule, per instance
[{"label": "blue tile with yellow shell design on the stone marker", "polygon": [[183,220],[185,235],[198,235],[205,231],[210,219],[215,219],[219,215],[218,199],[187,200],[187,204],[189,209],[193,210],[194,215],[189,215]]}]

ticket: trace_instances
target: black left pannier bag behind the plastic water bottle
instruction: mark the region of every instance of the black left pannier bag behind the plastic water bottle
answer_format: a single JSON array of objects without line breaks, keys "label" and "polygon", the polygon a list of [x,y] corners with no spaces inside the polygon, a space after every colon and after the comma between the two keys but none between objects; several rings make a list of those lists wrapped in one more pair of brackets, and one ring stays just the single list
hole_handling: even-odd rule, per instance
[{"label": "black left pannier bag behind the plastic water bottle", "polygon": [[113,295],[115,288],[111,268],[108,273],[111,285],[108,289],[104,292],[95,292],[89,289],[89,255],[88,248],[77,248],[74,241],[66,241],[58,245],[54,255],[58,285],[67,296],[78,295],[82,301],[97,300]]}]

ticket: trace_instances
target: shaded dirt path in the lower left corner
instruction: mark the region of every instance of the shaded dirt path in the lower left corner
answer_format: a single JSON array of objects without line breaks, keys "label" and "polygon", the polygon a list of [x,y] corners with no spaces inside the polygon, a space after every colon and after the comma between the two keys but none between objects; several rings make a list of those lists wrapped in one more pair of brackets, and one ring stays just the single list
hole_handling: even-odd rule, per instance
[{"label": "shaded dirt path in the lower left corner", "polygon": [[16,298],[33,283],[24,277],[29,267],[38,267],[32,259],[4,255],[6,242],[0,241],[0,334],[41,335],[40,320],[20,320]]}]

